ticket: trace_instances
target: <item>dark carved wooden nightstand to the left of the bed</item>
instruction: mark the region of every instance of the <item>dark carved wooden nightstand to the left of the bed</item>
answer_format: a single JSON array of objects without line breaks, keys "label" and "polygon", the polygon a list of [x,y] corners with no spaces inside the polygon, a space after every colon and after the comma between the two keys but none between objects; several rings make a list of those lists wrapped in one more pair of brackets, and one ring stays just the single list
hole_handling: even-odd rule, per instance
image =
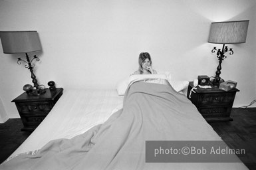
[{"label": "dark carved wooden nightstand to the left of the bed", "polygon": [[30,96],[26,92],[15,98],[15,102],[24,128],[22,131],[33,131],[45,119],[56,102],[63,95],[63,88],[57,88],[54,92],[46,89],[45,94]]}]

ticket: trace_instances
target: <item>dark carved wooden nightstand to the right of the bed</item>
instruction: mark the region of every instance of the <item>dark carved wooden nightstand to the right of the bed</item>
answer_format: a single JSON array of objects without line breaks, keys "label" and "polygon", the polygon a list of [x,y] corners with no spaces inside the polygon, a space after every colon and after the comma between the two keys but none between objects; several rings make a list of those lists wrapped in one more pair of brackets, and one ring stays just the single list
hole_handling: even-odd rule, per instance
[{"label": "dark carved wooden nightstand to the right of the bed", "polygon": [[190,90],[193,88],[193,82],[188,86],[187,97],[196,106],[207,122],[223,122],[233,120],[230,118],[231,109],[235,100],[237,88],[233,88],[227,92],[219,88],[199,88],[194,90],[190,96]]}]

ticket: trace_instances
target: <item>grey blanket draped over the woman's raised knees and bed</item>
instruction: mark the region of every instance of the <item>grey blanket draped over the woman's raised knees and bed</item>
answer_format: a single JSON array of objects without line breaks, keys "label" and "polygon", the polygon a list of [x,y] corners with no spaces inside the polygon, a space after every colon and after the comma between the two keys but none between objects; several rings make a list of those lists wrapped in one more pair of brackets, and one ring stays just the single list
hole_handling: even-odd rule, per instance
[{"label": "grey blanket draped over the woman's raised knees and bed", "polygon": [[192,102],[167,84],[134,82],[104,124],[56,139],[0,169],[246,169],[243,163],[146,163],[146,141],[221,140]]}]

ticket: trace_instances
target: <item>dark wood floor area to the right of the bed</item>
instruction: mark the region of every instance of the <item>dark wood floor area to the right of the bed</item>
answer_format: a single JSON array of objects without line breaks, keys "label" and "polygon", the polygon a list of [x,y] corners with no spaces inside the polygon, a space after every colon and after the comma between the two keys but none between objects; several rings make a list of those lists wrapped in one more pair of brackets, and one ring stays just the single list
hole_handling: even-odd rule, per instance
[{"label": "dark wood floor area to the right of the bed", "polygon": [[233,109],[233,121],[212,122],[211,127],[232,149],[245,149],[237,155],[249,169],[256,169],[256,108]]}]

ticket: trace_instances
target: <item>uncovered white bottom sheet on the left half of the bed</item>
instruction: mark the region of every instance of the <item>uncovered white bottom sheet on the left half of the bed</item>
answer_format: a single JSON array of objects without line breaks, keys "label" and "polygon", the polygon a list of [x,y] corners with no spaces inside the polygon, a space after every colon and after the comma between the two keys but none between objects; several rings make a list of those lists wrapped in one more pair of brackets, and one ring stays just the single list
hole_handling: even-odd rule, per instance
[{"label": "uncovered white bottom sheet on the left half of the bed", "polygon": [[63,96],[12,156],[41,149],[53,139],[72,138],[104,123],[122,108],[116,90],[64,90]]}]

